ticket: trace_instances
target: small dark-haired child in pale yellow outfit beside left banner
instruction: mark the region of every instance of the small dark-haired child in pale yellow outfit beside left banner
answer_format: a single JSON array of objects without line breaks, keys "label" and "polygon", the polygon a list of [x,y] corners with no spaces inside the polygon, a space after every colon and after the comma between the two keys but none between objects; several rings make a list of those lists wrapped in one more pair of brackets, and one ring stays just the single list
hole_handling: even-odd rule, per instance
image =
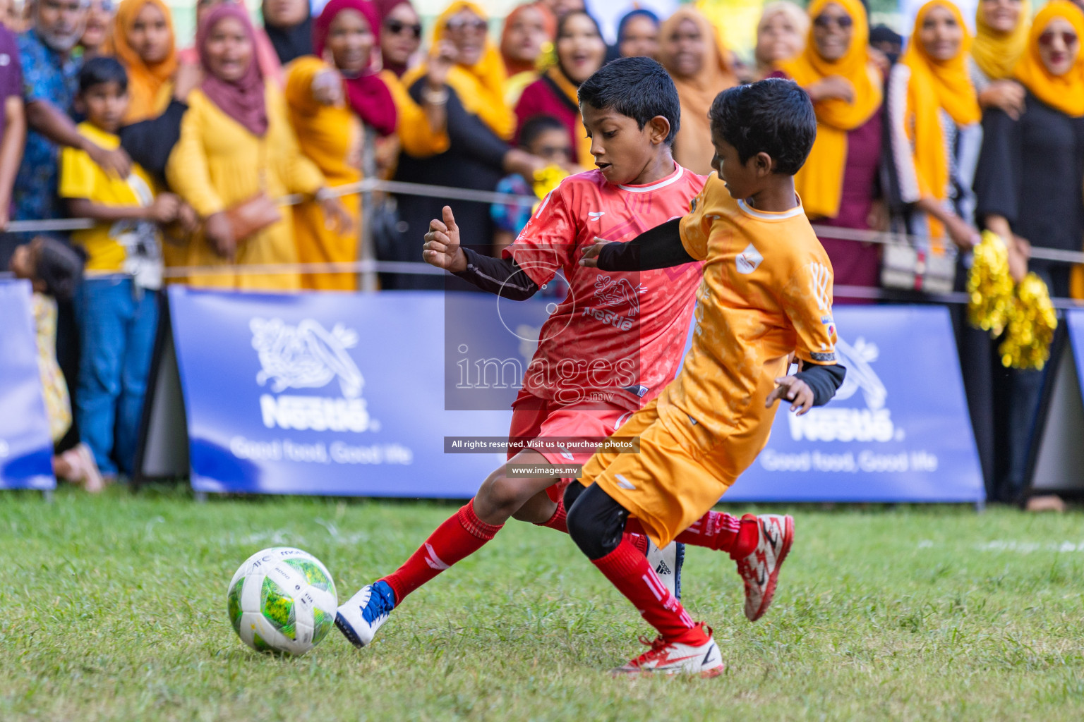
[{"label": "small dark-haired child in pale yellow outfit beside left banner", "polygon": [[[49,432],[53,444],[57,444],[72,425],[72,402],[56,363],[56,301],[72,299],[82,276],[82,258],[55,238],[38,236],[29,244],[15,247],[10,267],[16,278],[25,278],[34,287],[30,303],[38,342],[38,370]],[[59,478],[82,484],[88,491],[102,490],[102,474],[86,444],[57,451],[53,456],[53,473]]]}]

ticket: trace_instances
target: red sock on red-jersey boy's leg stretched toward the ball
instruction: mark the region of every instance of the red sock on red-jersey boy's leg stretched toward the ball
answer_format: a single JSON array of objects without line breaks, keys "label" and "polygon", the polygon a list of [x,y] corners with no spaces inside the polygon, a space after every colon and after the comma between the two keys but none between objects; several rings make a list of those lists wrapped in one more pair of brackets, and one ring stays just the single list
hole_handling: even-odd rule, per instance
[{"label": "red sock on red-jersey boy's leg stretched toward the ball", "polygon": [[478,518],[474,499],[468,501],[438,526],[401,567],[384,577],[396,593],[396,604],[402,604],[403,598],[412,591],[481,549],[502,526]]}]

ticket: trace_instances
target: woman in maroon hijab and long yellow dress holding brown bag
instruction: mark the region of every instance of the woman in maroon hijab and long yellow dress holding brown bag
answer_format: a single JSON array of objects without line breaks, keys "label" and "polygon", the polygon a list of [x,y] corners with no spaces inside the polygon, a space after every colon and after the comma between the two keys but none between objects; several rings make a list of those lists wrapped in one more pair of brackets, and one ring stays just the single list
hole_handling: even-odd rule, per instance
[{"label": "woman in maroon hijab and long yellow dress holding brown bag", "polygon": [[[196,32],[205,77],[189,95],[181,140],[166,168],[170,187],[203,220],[203,229],[171,260],[186,266],[297,263],[289,214],[263,216],[242,235],[230,211],[255,198],[297,193],[318,199],[326,215],[349,224],[343,207],[324,193],[323,174],[301,155],[286,119],[282,92],[263,78],[256,62],[256,35],[243,5],[211,10]],[[295,290],[300,275],[279,273],[194,274],[190,285],[237,289]]]}]

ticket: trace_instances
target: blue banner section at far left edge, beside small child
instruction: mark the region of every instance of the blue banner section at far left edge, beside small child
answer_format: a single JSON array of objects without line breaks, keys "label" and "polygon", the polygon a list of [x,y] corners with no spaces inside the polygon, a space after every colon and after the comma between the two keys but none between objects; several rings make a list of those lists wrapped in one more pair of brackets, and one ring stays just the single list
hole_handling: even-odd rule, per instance
[{"label": "blue banner section at far left edge, beside small child", "polygon": [[0,488],[55,488],[29,281],[0,281]]}]

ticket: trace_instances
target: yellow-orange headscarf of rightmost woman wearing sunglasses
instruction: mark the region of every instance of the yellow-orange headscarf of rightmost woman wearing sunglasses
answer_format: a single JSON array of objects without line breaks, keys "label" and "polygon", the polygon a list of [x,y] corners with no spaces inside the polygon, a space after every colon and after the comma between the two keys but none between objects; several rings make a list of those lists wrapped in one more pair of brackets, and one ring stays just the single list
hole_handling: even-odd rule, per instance
[{"label": "yellow-orange headscarf of rightmost woman wearing sunglasses", "polygon": [[1016,77],[1035,97],[1056,110],[1079,118],[1084,116],[1084,52],[1077,50],[1076,62],[1064,75],[1050,75],[1038,54],[1038,37],[1055,17],[1062,17],[1084,38],[1084,13],[1067,0],[1050,0],[1032,23],[1028,50],[1017,64]]}]

